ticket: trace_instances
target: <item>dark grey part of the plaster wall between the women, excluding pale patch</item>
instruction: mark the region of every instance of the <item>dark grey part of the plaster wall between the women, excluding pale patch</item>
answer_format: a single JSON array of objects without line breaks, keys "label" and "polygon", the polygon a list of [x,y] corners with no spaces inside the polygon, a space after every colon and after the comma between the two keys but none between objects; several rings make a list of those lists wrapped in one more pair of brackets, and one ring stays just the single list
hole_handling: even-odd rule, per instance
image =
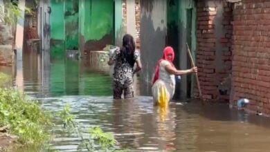
[{"label": "dark grey part of the plaster wall between the women, excluding pale patch", "polygon": [[[154,28],[151,12],[153,10],[152,1],[141,1],[141,62],[143,70],[140,77],[141,95],[151,95],[152,77],[156,62],[162,57],[165,47],[166,28]],[[159,12],[165,13],[165,12]],[[161,20],[163,23],[163,19]]]}]

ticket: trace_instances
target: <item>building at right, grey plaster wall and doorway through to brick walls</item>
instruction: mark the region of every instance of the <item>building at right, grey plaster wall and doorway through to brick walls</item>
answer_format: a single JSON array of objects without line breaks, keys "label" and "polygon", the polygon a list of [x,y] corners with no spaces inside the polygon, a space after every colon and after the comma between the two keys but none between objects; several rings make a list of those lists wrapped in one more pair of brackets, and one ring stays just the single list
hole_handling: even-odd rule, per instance
[{"label": "building at right, grey plaster wall and doorway through to brick walls", "polygon": [[[188,68],[183,44],[191,41],[204,99],[235,105],[237,99],[247,98],[247,109],[270,114],[269,14],[270,0],[141,1],[142,82],[150,88],[147,81],[166,45],[174,46],[180,61],[174,64]],[[196,18],[195,29],[189,17]],[[196,82],[191,84],[191,94],[198,95]],[[187,97],[190,88],[180,85],[176,93]]]}]

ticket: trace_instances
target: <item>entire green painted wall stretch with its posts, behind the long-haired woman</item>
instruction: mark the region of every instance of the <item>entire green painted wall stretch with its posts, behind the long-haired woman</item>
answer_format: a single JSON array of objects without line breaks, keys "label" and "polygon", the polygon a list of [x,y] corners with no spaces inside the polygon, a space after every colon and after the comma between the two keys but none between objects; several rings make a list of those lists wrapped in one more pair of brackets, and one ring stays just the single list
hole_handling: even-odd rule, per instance
[{"label": "entire green painted wall stretch with its posts, behind the long-haired woman", "polygon": [[102,50],[122,26],[121,0],[51,0],[50,6],[52,58],[65,50]]}]

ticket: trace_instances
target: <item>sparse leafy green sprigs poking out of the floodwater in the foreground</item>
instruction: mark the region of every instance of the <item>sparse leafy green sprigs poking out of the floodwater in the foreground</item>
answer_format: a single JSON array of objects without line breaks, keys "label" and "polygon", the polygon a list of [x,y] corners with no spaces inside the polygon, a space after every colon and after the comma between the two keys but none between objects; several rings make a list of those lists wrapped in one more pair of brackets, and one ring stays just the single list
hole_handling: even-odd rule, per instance
[{"label": "sparse leafy green sprigs poking out of the floodwater in the foreground", "polygon": [[[70,106],[64,106],[63,111],[60,111],[60,117],[64,122],[64,128],[69,128],[69,131],[75,132],[82,140],[78,146],[78,150],[83,151],[120,151],[117,147],[118,142],[114,139],[111,133],[105,133],[99,126],[89,129],[89,137],[84,138],[80,124],[74,120],[75,116],[71,114]],[[124,151],[124,150],[121,150]]]}]

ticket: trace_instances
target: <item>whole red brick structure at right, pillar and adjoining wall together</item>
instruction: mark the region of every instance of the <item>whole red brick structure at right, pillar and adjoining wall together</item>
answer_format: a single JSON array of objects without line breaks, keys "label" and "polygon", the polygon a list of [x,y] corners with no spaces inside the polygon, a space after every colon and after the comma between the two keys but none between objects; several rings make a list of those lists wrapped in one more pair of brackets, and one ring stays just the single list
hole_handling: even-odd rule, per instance
[{"label": "whole red brick structure at right, pillar and adjoining wall together", "polygon": [[[235,2],[235,1],[233,1]],[[198,1],[197,65],[206,99],[247,98],[270,114],[270,0]]]}]

